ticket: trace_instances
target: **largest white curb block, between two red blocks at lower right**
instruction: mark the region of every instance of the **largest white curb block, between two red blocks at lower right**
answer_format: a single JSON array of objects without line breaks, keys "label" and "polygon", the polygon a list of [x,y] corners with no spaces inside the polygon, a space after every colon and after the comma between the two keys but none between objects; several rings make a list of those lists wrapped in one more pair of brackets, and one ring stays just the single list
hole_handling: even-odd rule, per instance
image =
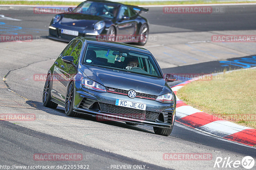
[{"label": "largest white curb block, between two red blocks at lower right", "polygon": [[200,129],[220,137],[225,137],[233,133],[243,131],[244,129],[252,129],[252,128],[234,124],[227,120],[216,120],[214,122],[205,124],[195,129]]}]

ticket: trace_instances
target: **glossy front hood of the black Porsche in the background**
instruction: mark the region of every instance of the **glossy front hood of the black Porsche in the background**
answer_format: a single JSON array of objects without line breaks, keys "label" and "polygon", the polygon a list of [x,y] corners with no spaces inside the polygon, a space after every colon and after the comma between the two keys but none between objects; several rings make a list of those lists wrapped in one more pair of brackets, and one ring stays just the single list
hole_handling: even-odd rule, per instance
[{"label": "glossy front hood of the black Porsche in the background", "polygon": [[61,24],[76,27],[92,27],[97,21],[101,21],[104,18],[88,14],[62,14]]}]

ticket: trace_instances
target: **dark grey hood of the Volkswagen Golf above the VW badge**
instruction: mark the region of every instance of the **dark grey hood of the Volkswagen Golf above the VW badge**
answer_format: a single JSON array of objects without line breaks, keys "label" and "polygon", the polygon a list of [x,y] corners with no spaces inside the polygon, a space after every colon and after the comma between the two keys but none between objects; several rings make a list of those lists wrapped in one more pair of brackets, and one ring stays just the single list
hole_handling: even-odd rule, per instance
[{"label": "dark grey hood of the Volkswagen Golf above the VW badge", "polygon": [[163,78],[149,77],[109,68],[84,65],[80,68],[88,78],[105,87],[135,90],[150,95],[163,95],[170,93],[171,88]]}]

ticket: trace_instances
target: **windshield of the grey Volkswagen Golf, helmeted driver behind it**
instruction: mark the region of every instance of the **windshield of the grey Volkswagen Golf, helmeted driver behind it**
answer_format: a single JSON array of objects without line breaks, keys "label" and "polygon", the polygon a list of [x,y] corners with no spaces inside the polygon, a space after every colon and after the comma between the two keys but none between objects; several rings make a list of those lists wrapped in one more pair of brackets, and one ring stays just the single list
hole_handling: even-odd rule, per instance
[{"label": "windshield of the grey Volkswagen Golf, helmeted driver behind it", "polygon": [[83,64],[162,78],[150,54],[130,49],[88,44]]}]

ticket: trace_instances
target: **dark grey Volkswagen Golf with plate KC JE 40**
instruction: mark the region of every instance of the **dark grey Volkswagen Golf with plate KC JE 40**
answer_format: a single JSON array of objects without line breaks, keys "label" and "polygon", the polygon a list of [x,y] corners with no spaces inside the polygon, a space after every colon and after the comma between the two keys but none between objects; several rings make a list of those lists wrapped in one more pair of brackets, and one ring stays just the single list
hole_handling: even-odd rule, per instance
[{"label": "dark grey Volkswagen Golf with plate KC JE 40", "polygon": [[146,49],[124,43],[77,37],[47,73],[43,104],[65,107],[67,116],[121,120],[153,126],[169,136],[176,97],[156,59]]}]

